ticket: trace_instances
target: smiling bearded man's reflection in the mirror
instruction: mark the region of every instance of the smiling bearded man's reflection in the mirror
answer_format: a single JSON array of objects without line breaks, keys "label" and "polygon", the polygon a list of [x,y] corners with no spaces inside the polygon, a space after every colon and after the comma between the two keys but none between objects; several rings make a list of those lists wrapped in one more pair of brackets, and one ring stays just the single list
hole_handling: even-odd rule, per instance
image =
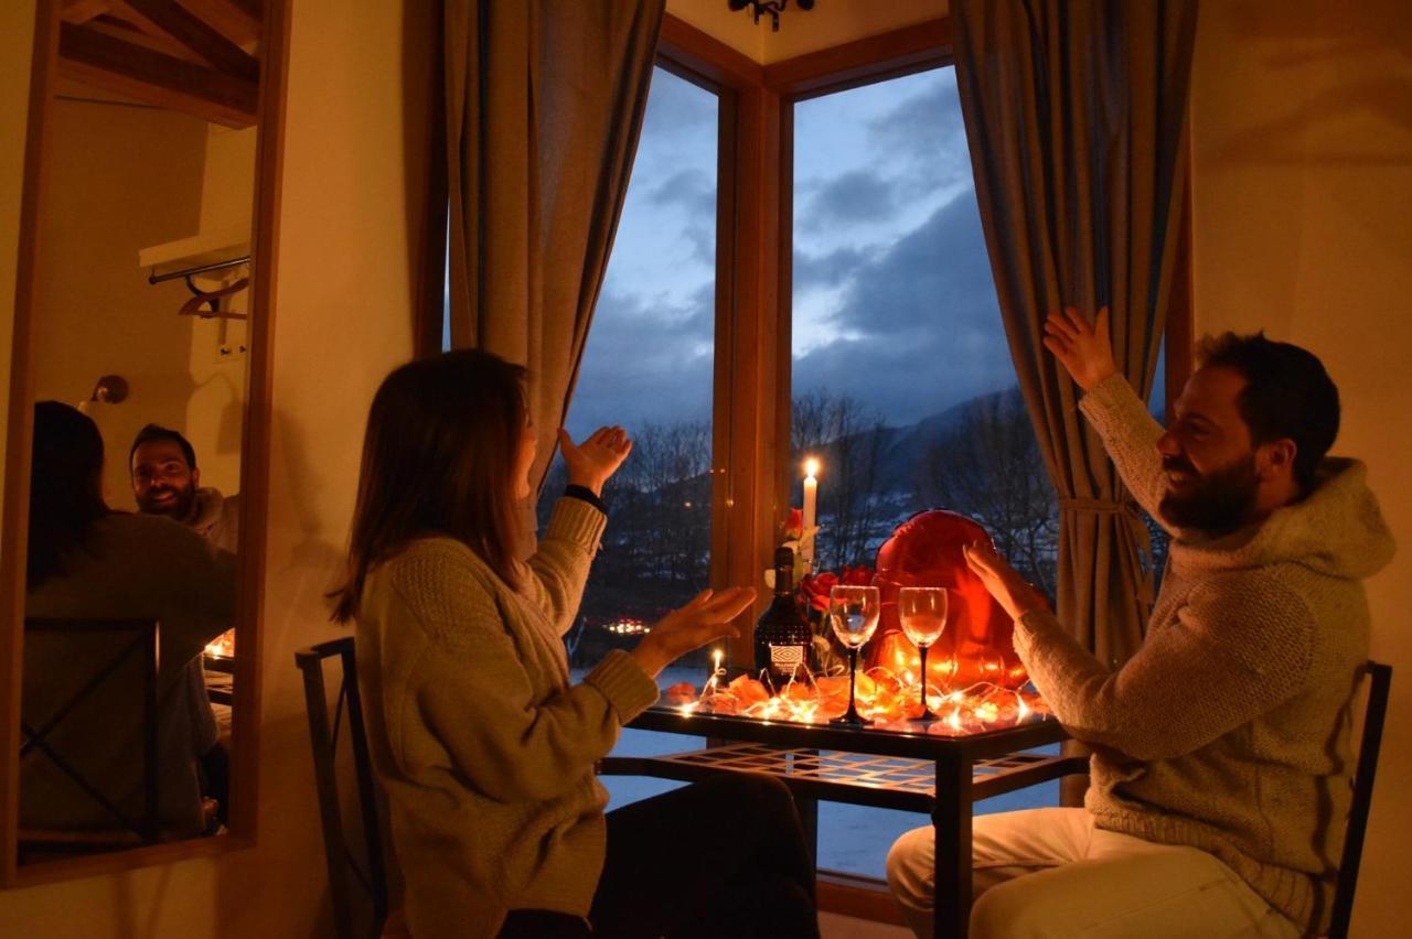
[{"label": "smiling bearded man's reflection in the mirror", "polygon": [[181,433],[160,424],[143,427],[128,451],[128,468],[141,512],[165,515],[216,547],[236,550],[240,496],[201,485],[196,451]]}]

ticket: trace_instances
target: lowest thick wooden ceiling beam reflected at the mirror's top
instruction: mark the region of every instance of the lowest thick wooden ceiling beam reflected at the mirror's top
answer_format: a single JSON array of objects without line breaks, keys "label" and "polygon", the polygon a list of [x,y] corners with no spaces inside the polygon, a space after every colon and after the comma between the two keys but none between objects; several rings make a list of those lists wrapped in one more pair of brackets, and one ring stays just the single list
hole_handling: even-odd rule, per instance
[{"label": "lowest thick wooden ceiling beam reflected at the mirror's top", "polygon": [[226,127],[256,123],[257,82],[71,23],[59,27],[59,73]]}]

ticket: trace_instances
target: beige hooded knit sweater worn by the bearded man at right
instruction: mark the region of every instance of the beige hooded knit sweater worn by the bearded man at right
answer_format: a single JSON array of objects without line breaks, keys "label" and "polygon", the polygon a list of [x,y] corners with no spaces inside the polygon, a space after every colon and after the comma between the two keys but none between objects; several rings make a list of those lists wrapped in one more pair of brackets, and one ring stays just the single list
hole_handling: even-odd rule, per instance
[{"label": "beige hooded knit sweater worn by the bearded man at right", "polygon": [[[1080,409],[1158,516],[1161,427],[1118,376]],[[1091,744],[1099,828],[1216,854],[1306,932],[1329,925],[1350,801],[1350,709],[1368,650],[1363,578],[1394,543],[1363,464],[1220,539],[1175,532],[1138,653],[1110,673],[1048,610],[1015,650]]]}]

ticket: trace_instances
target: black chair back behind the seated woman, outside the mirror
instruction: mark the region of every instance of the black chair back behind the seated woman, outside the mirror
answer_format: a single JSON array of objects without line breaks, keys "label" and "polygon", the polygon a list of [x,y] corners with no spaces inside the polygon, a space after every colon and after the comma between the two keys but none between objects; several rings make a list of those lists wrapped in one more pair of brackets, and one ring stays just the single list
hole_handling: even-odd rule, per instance
[{"label": "black chair back behind the seated woman, outside the mirror", "polygon": [[[342,668],[332,722],[323,681],[323,663],[329,658],[337,658]],[[383,860],[383,829],[377,785],[373,778],[373,759],[367,747],[363,704],[359,696],[353,637],[347,636],[301,649],[294,654],[294,661],[304,673],[304,695],[309,711],[309,742],[313,744],[313,778],[319,790],[319,816],[323,821],[323,853],[329,866],[333,921],[339,939],[359,939],[360,936],[377,939],[383,935],[383,926],[387,922],[387,869]],[[343,728],[345,715],[357,778],[357,809],[363,825],[366,869],[357,863],[349,847],[349,833],[343,825],[343,804],[335,773],[339,730]],[[357,916],[353,880],[361,885],[364,895],[373,904],[373,922],[363,932],[359,932],[354,925]]]}]

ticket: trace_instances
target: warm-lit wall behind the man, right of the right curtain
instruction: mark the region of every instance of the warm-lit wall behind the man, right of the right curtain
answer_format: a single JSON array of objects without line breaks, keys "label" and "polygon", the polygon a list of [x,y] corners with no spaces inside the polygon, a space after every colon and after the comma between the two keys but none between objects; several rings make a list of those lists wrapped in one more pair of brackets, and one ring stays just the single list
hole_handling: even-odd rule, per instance
[{"label": "warm-lit wall behind the man, right of the right curtain", "polygon": [[1323,358],[1336,451],[1367,461],[1401,543],[1368,584],[1392,704],[1354,935],[1406,918],[1412,867],[1412,7],[1206,3],[1192,93],[1196,329]]}]

